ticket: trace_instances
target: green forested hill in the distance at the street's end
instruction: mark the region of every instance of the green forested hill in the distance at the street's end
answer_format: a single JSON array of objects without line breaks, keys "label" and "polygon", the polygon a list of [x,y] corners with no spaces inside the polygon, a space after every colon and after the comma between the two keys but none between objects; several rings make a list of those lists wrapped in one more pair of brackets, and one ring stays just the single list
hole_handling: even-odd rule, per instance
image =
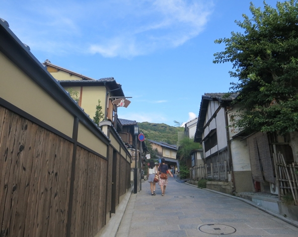
[{"label": "green forested hill in the distance at the street's end", "polygon": [[163,141],[170,145],[176,145],[178,141],[178,132],[184,132],[184,127],[173,127],[165,123],[137,123],[139,131],[145,135],[145,138],[154,141]]}]

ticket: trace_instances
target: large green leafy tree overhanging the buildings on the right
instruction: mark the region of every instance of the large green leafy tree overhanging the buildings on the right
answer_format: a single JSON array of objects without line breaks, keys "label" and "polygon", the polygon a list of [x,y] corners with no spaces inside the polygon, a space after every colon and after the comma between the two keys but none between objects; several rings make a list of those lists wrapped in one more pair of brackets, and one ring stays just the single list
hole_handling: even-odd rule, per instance
[{"label": "large green leafy tree overhanging the buildings on the right", "polygon": [[[292,148],[298,143],[298,3],[277,2],[263,10],[250,5],[252,18],[236,21],[244,33],[215,43],[226,45],[214,54],[214,63],[231,62],[235,71],[231,92],[239,93],[240,106],[235,126],[251,131],[291,135]],[[295,145],[295,144],[296,145]]]}]

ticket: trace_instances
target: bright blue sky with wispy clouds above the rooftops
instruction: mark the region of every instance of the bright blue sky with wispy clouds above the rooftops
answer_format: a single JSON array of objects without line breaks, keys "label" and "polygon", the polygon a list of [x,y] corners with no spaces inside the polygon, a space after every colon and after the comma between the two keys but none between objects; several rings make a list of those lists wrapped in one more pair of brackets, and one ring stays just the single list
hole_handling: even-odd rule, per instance
[{"label": "bright blue sky with wispy clouds above the rooftops", "polygon": [[[119,118],[187,122],[204,93],[228,92],[231,64],[213,54],[263,0],[1,0],[0,18],[40,61],[95,79],[114,77],[132,97]],[[266,3],[274,6],[276,0]],[[283,2],[283,1],[281,1]]]}]

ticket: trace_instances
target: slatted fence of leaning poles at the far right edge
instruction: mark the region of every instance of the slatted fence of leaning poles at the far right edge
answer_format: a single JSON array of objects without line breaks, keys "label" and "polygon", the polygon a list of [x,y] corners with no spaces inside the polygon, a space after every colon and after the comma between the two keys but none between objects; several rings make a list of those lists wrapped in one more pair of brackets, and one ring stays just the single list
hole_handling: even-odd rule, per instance
[{"label": "slatted fence of leaning poles at the far right edge", "polygon": [[274,167],[278,186],[279,199],[286,195],[293,198],[294,204],[298,205],[298,164],[286,164],[283,154],[276,152],[273,145]]}]

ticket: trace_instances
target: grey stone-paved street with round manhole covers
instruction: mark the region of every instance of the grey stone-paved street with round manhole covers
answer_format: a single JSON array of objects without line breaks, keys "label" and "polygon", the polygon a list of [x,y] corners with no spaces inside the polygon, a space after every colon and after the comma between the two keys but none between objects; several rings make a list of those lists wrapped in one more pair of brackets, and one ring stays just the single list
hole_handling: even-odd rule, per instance
[{"label": "grey stone-paved street with round manhole covers", "polygon": [[117,237],[283,236],[297,237],[298,228],[258,208],[169,178],[165,196],[150,184],[131,194]]}]

